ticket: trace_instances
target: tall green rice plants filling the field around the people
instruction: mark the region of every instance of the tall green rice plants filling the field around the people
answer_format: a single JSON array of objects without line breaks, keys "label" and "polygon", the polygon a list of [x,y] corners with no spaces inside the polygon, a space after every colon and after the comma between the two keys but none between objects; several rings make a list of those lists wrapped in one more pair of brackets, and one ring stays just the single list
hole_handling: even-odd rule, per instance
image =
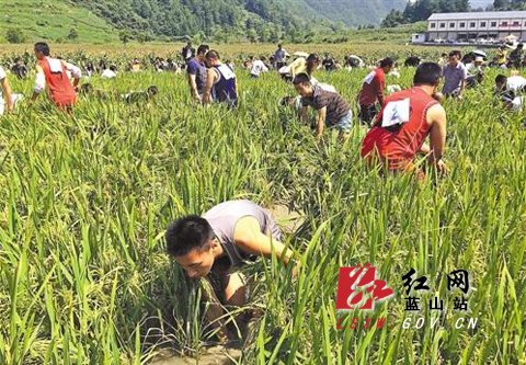
[{"label": "tall green rice plants filling the field around the people", "polygon": [[[366,72],[317,78],[352,101]],[[412,72],[396,82],[409,85]],[[294,90],[275,75],[238,77],[233,112],[192,105],[183,76],[145,72],[93,82],[121,92],[157,84],[152,107],[80,101],[68,119],[41,100],[0,119],[0,363],[138,364],[161,344],[197,352],[209,341],[201,294],[164,254],[162,235],[172,219],[231,198],[306,213],[286,238],[302,262],[297,281],[275,261],[248,269],[265,310],[240,363],[526,361],[524,115],[493,104],[489,83],[446,101],[450,173],[419,183],[370,171],[357,129],[345,144],[335,134],[318,141],[278,107]],[[30,94],[31,80],[11,82]],[[339,267],[366,262],[396,297],[374,315],[336,313]],[[402,328],[410,267],[428,277],[422,303],[446,301],[443,313],[413,316],[438,316],[434,329]],[[445,274],[458,269],[471,275],[464,317],[478,318],[474,330],[454,327]],[[370,316],[392,329],[348,328]]]}]

